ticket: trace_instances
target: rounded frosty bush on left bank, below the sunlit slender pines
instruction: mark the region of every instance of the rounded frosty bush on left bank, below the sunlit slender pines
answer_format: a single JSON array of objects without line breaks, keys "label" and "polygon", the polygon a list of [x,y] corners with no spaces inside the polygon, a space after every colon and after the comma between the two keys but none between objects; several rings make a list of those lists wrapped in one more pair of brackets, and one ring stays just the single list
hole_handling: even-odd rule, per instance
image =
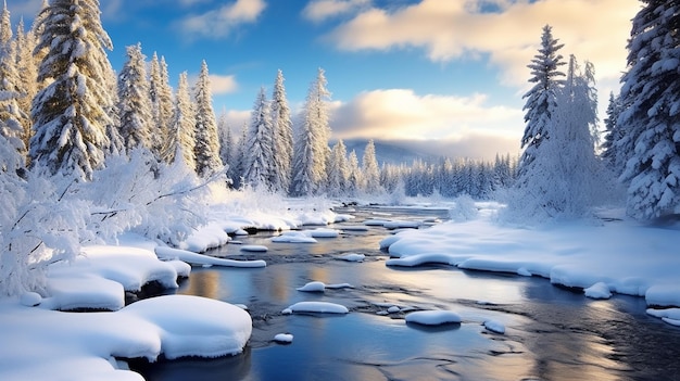
[{"label": "rounded frosty bush on left bank, below the sunlit slender pines", "polygon": [[173,245],[205,224],[207,185],[184,161],[158,163],[147,150],[111,157],[86,183],[84,195],[97,205],[92,228],[108,238],[125,230]]}]

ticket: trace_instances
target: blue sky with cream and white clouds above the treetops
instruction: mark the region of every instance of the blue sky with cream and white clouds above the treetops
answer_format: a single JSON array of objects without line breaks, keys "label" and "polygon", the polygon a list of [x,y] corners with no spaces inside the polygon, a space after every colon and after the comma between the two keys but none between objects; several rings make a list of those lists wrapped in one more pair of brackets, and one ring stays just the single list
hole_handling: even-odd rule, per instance
[{"label": "blue sky with cream and white clouds above the treetops", "polygon": [[[173,82],[201,61],[215,111],[240,129],[261,86],[284,72],[299,110],[318,67],[332,92],[333,138],[411,142],[428,153],[493,157],[519,152],[526,65],[541,29],[561,53],[595,65],[601,118],[626,67],[638,0],[101,0],[114,43],[163,55]],[[7,0],[13,22],[42,0]]]}]

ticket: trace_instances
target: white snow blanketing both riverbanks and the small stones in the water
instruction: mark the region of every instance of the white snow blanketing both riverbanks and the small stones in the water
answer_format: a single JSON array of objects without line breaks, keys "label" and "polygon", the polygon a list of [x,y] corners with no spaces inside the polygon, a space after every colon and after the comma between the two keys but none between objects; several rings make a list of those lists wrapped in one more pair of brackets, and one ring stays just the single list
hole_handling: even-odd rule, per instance
[{"label": "white snow blanketing both riverbanks and the small stones in the water", "polygon": [[[176,288],[177,277],[190,272],[187,263],[266,266],[262,261],[234,263],[197,254],[226,243],[229,237],[225,231],[248,227],[288,230],[350,218],[325,206],[299,205],[278,205],[274,213],[250,214],[247,207],[240,212],[217,208],[212,223],[179,250],[122,237],[118,245],[89,246],[74,264],[54,265],[49,274],[49,296],[27,294],[0,300],[0,338],[5,343],[0,345],[0,379],[54,379],[59,374],[67,380],[140,380],[116,358],[240,353],[252,330],[251,318],[243,309],[218,301],[176,295],[124,307],[125,291],[138,291],[149,281]],[[648,227],[612,219],[518,228],[495,221],[493,216],[500,205],[476,205],[479,213],[465,213],[463,219],[454,218],[429,229],[402,230],[383,240],[381,245],[393,256],[387,265],[436,262],[465,269],[541,276],[553,283],[582,288],[589,297],[608,297],[612,292],[640,295],[657,307],[650,309],[650,315],[680,325],[680,309],[658,308],[680,306],[677,226]],[[453,217],[459,215],[452,211]],[[386,224],[399,226],[389,218]],[[295,312],[319,307],[329,306],[289,308]],[[330,307],[331,312],[344,313],[342,306]],[[73,308],[111,312],[55,310]],[[431,319],[425,316],[427,323]],[[503,327],[491,321],[489,329],[501,331]]]}]

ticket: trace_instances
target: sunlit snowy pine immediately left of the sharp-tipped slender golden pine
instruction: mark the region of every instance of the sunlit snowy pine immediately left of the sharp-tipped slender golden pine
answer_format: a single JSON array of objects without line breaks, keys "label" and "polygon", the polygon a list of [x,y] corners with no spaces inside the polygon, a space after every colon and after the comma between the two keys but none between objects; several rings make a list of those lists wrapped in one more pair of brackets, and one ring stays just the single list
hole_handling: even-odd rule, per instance
[{"label": "sunlit snowy pine immediately left of the sharp-tipped slender golden pine", "polygon": [[179,74],[173,120],[163,149],[163,160],[166,163],[174,163],[178,158],[177,154],[179,154],[185,164],[196,170],[196,155],[193,153],[193,147],[196,145],[194,126],[196,118],[189,93],[189,81],[187,72],[182,72]]}]

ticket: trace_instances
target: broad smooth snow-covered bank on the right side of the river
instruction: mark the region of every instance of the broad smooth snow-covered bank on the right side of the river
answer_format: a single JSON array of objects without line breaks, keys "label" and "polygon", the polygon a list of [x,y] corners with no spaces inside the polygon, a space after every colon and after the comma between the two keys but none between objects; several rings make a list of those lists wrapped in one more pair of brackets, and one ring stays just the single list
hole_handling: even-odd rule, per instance
[{"label": "broad smooth snow-covered bank on the right side of the river", "polygon": [[[477,203],[479,214],[425,230],[406,230],[381,242],[388,266],[442,263],[462,269],[540,276],[554,284],[644,296],[647,305],[680,306],[678,225],[643,226],[616,211],[593,221],[514,227],[495,221],[501,205]],[[680,321],[679,321],[680,323]]]}]

